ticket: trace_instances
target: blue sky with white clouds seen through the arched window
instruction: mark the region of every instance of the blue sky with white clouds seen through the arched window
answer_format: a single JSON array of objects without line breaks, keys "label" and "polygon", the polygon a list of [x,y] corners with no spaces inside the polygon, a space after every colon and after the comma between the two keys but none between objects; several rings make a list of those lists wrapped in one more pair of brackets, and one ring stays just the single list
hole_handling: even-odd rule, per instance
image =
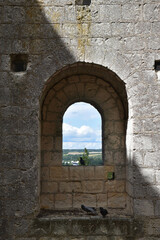
[{"label": "blue sky with white clouds seen through the arched window", "polygon": [[63,116],[63,149],[101,149],[101,124],[91,104],[72,104]]}]

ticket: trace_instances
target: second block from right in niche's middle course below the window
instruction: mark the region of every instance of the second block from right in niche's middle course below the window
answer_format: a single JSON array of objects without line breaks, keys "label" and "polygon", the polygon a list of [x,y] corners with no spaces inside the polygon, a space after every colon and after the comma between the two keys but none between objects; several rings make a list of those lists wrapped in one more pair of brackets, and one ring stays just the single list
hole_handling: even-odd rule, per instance
[{"label": "second block from right in niche's middle course below the window", "polygon": [[82,189],[84,193],[102,193],[104,189],[103,181],[82,181]]}]

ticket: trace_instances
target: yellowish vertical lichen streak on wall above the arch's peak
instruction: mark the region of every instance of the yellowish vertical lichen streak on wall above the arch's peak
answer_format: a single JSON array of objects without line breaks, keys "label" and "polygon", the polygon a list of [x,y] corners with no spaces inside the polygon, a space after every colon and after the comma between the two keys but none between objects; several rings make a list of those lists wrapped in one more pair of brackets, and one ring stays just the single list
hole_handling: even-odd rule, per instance
[{"label": "yellowish vertical lichen streak on wall above the arch's peak", "polygon": [[84,60],[85,46],[90,45],[91,11],[88,7],[77,8],[78,50]]}]

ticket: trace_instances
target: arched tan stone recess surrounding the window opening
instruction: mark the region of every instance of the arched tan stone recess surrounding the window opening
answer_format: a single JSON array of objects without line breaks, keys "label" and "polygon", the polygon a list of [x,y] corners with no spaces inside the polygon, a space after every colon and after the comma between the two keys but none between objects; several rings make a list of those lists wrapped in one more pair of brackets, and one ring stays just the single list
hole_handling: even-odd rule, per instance
[{"label": "arched tan stone recess surrounding the window opening", "polygon": [[[84,204],[130,211],[127,108],[121,82],[111,71],[90,64],[69,67],[48,80],[41,108],[41,209],[74,210]],[[62,166],[63,114],[79,101],[92,104],[101,114],[103,166]],[[114,173],[114,179],[109,180],[108,173]]]}]

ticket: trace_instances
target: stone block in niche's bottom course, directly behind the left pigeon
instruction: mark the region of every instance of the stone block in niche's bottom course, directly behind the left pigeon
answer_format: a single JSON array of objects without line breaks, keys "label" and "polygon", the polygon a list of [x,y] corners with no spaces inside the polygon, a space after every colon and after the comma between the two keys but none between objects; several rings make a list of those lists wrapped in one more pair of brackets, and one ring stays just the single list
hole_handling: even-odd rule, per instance
[{"label": "stone block in niche's bottom course, directly behind the left pigeon", "polygon": [[73,207],[80,208],[81,204],[86,206],[96,207],[96,195],[95,194],[74,194],[73,195]]}]

